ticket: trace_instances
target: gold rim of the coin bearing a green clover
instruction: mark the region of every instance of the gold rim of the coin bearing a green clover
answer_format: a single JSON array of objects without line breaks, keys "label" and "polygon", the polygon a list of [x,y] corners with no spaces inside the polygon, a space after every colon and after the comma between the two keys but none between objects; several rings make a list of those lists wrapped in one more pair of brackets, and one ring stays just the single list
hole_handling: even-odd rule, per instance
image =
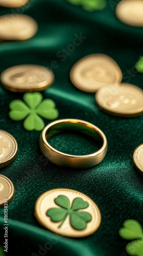
[{"label": "gold rim of the coin bearing a green clover", "polygon": [[[38,214],[38,211],[39,211],[39,206],[40,206],[40,203],[42,202],[42,199],[45,197],[45,195],[47,196],[48,194],[52,194],[53,192],[55,191],[70,191],[70,192],[73,192],[73,193],[78,193],[80,194],[81,196],[84,196],[86,198],[88,198],[88,200],[93,204],[93,206],[96,208],[97,210],[97,213],[98,213],[98,222],[97,222],[97,225],[96,227],[92,230],[92,232],[88,231],[87,234],[84,234],[84,235],[77,235],[77,236],[74,236],[74,235],[66,235],[66,234],[63,234],[63,233],[60,233],[60,232],[57,232],[58,234],[61,234],[62,236],[64,237],[74,237],[74,238],[81,238],[81,237],[87,237],[87,236],[90,236],[92,233],[94,233],[95,231],[97,231],[97,229],[99,228],[100,224],[101,224],[101,212],[100,212],[100,209],[99,207],[97,206],[96,203],[93,202],[92,199],[90,199],[88,196],[86,196],[85,194],[77,191],[77,190],[73,190],[73,189],[67,189],[67,188],[56,188],[56,189],[51,189],[51,190],[48,190],[46,192],[44,192],[42,195],[40,195],[40,197],[37,199],[36,203],[35,203],[35,208],[34,208],[34,215],[37,219],[37,221],[45,228],[51,230],[52,232],[56,233],[55,231],[52,230],[52,228],[49,228],[48,225],[44,225],[44,223],[42,222],[42,217],[40,216],[40,214]],[[38,210],[37,210],[38,209]]]}]

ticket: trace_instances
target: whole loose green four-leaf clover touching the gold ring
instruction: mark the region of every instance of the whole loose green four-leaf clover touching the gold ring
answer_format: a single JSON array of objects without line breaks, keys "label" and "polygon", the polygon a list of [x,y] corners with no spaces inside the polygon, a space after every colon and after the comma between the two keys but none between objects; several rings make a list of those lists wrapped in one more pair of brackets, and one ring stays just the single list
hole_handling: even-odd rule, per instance
[{"label": "whole loose green four-leaf clover touching the gold ring", "polygon": [[[41,117],[45,119],[56,119],[58,110],[55,108],[55,102],[52,99],[42,100],[41,93],[25,93],[21,100],[11,101],[9,116],[12,120],[19,121],[25,119],[23,126],[28,131],[41,131],[45,124]],[[41,117],[39,117],[41,116]]]}]

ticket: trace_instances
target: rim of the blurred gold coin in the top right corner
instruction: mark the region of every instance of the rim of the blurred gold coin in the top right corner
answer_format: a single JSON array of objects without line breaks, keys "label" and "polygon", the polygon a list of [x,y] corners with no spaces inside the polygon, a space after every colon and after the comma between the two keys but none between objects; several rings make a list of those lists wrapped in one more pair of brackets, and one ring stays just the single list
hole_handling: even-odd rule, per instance
[{"label": "rim of the blurred gold coin in the top right corner", "polygon": [[134,0],[122,0],[120,3],[118,3],[116,10],[115,10],[115,14],[117,16],[117,18],[124,24],[126,25],[130,25],[130,26],[134,26],[134,27],[143,27],[143,22],[139,22],[138,23],[134,23],[131,20],[129,21],[128,18],[126,18],[125,16],[121,15],[121,11],[120,11],[120,7],[124,4],[126,4],[126,2],[135,2]]}]

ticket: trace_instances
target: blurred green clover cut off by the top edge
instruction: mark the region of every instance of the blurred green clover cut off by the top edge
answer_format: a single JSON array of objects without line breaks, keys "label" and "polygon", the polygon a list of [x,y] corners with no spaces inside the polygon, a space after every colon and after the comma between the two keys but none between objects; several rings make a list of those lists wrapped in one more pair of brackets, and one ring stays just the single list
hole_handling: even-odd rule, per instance
[{"label": "blurred green clover cut off by the top edge", "polygon": [[103,10],[106,7],[106,0],[67,0],[70,4],[81,5],[86,11]]}]

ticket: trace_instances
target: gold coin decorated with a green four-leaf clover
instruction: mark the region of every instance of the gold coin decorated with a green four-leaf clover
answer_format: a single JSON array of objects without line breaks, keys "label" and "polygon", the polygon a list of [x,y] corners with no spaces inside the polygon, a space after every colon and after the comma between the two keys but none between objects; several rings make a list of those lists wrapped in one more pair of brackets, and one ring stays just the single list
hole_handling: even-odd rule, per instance
[{"label": "gold coin decorated with a green four-leaf clover", "polygon": [[71,189],[46,191],[36,201],[35,217],[45,228],[65,237],[85,237],[101,223],[98,206],[86,195]]}]

